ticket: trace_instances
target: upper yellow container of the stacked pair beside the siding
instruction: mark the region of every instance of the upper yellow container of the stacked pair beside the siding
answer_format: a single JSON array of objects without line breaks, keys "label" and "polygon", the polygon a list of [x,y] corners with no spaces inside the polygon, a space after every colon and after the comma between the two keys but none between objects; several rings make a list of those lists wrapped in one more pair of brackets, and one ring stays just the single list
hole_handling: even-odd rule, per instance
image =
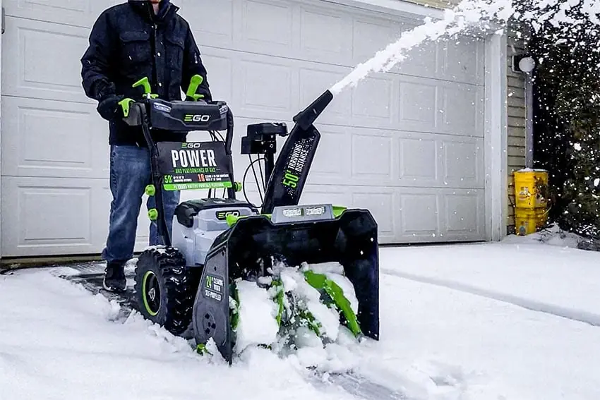
[{"label": "upper yellow container of the stacked pair beside the siding", "polygon": [[515,205],[517,208],[546,208],[548,171],[521,169],[515,171]]}]

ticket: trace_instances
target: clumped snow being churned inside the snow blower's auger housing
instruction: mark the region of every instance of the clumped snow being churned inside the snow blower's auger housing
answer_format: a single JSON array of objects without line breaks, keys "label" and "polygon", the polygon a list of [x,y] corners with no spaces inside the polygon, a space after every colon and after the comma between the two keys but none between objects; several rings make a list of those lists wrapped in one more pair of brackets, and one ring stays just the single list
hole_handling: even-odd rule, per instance
[{"label": "clumped snow being churned inside the snow blower's auger housing", "polygon": [[[236,353],[251,345],[269,346],[284,356],[297,357],[304,367],[321,367],[323,363],[338,363],[335,358],[340,346],[357,343],[352,332],[340,325],[340,310],[335,305],[323,303],[320,291],[308,284],[306,271],[323,274],[335,281],[354,313],[358,311],[354,286],[344,276],[344,267],[340,263],[304,263],[297,267],[278,263],[269,277],[236,281],[237,299],[231,299],[239,316],[234,329]],[[280,285],[273,285],[274,281]],[[281,329],[277,322],[280,314],[278,294],[282,294]],[[304,317],[303,311],[313,317],[314,326]]]}]

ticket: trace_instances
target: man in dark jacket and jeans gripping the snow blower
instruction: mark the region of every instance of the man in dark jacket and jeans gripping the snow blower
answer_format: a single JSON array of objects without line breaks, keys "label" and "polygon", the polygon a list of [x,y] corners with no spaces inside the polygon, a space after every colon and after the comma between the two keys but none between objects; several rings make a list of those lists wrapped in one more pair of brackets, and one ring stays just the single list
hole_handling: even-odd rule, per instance
[{"label": "man in dark jacket and jeans gripping the snow blower", "polygon": [[[125,263],[133,257],[138,215],[145,187],[150,183],[150,155],[139,127],[123,121],[119,102],[140,99],[140,87],[131,85],[148,77],[152,93],[161,99],[181,100],[193,75],[201,75],[198,93],[212,99],[206,70],[191,29],[169,0],[128,0],[112,6],[96,20],[89,47],[81,59],[83,89],[97,100],[97,111],[109,121],[110,206],[109,234],[102,258],[107,262],[104,289],[123,291]],[[158,141],[184,141],[185,133],[152,131]],[[164,193],[169,232],[179,192]],[[149,198],[148,208],[154,207]],[[150,224],[150,246],[162,244]]]}]

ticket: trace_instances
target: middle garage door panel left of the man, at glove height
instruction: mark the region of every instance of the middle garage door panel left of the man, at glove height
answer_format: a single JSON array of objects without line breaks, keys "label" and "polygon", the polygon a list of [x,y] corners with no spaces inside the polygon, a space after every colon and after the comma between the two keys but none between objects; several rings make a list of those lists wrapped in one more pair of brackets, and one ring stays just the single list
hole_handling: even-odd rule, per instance
[{"label": "middle garage door panel left of the man, at glove height", "polygon": [[2,114],[3,175],[108,176],[107,127],[91,104],[4,97]]}]

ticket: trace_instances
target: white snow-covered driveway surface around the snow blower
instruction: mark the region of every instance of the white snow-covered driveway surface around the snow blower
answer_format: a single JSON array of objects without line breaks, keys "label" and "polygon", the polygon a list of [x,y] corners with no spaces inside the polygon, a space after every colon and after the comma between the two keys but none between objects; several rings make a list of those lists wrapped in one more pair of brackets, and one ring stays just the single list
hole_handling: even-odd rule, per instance
[{"label": "white snow-covered driveway surface around the snow blower", "polygon": [[[380,261],[381,341],[332,367],[409,399],[600,399],[600,253],[509,238]],[[294,358],[249,349],[229,368],[119,315],[49,269],[0,276],[0,399],[357,398]]]}]

